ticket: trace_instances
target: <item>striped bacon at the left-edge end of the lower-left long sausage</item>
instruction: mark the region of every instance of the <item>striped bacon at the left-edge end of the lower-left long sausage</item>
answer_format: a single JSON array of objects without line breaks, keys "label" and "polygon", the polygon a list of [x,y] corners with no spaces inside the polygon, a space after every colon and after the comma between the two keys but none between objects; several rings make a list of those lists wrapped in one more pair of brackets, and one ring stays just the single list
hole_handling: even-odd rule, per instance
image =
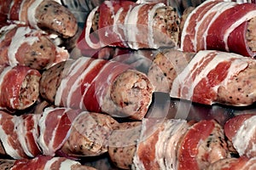
[{"label": "striped bacon at the left-edge end of the lower-left long sausage", "polygon": [[[38,115],[28,115],[25,119],[4,111],[0,111],[0,115],[0,139],[6,153],[15,159],[37,156],[40,153],[36,142]],[[26,123],[28,121],[30,124]]]}]

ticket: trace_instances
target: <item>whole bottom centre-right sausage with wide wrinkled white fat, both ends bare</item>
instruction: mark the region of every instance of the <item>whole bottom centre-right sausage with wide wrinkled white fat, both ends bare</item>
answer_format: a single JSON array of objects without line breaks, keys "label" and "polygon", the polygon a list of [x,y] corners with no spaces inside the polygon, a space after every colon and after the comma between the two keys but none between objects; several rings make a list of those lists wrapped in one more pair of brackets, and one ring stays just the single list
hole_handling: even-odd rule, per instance
[{"label": "whole bottom centre-right sausage with wide wrinkled white fat, both ends bare", "polygon": [[116,130],[108,154],[125,169],[204,169],[230,157],[223,128],[213,120],[146,118],[142,123],[120,123]]}]

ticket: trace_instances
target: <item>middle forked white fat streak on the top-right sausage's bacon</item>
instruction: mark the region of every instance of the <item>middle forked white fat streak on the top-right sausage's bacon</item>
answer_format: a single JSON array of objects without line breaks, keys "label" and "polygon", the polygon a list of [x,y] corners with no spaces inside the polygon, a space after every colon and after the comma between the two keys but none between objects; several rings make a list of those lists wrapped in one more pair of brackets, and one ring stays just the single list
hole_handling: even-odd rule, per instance
[{"label": "middle forked white fat streak on the top-right sausage's bacon", "polygon": [[207,13],[201,19],[201,21],[198,22],[198,24],[195,26],[195,45],[194,45],[195,51],[197,51],[197,49],[196,49],[197,39],[198,39],[197,32],[200,31],[200,30],[198,30],[198,28],[199,28],[199,26],[201,26],[201,24],[204,23],[204,20],[208,17],[208,14],[211,14],[212,12],[216,12],[216,14],[214,14],[214,16],[212,16],[212,19],[207,26],[207,30],[204,31],[203,36],[201,37],[204,40],[204,49],[207,49],[207,35],[208,35],[209,28],[212,26],[212,22],[214,22],[218,18],[218,16],[220,14],[222,14],[225,10],[234,7],[234,5],[236,5],[235,2],[230,2],[230,3],[221,2],[221,3],[215,4],[212,8],[210,8],[207,11]]}]

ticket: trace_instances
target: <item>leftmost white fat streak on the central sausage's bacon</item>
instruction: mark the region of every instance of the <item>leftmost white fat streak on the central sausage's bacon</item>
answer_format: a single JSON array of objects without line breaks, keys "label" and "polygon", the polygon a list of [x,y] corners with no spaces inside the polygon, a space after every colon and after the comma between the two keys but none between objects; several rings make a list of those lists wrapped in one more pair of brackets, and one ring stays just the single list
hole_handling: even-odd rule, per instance
[{"label": "leftmost white fat streak on the central sausage's bacon", "polygon": [[67,82],[69,81],[70,77],[73,77],[74,74],[80,69],[81,66],[84,65],[81,60],[85,57],[80,57],[79,59],[76,59],[72,65],[67,70],[67,77],[64,77],[61,79],[61,83],[59,87],[57,88],[56,94],[55,94],[55,105],[61,105],[61,99],[62,99],[62,93],[63,91],[69,86]]}]

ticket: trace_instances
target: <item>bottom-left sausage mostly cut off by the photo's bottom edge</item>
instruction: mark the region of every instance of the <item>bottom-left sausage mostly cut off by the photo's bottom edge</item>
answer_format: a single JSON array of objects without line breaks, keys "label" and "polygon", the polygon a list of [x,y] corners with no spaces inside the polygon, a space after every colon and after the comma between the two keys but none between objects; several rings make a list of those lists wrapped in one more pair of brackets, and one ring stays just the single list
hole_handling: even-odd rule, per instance
[{"label": "bottom-left sausage mostly cut off by the photo's bottom edge", "polygon": [[[44,170],[44,169],[55,169],[55,170],[96,170],[94,167],[88,167],[81,165],[79,161],[73,161],[65,157],[60,156],[37,156],[33,159],[20,159],[16,161],[1,160],[4,165],[7,165],[5,169],[12,170]],[[0,165],[2,169],[3,164]]]}]

